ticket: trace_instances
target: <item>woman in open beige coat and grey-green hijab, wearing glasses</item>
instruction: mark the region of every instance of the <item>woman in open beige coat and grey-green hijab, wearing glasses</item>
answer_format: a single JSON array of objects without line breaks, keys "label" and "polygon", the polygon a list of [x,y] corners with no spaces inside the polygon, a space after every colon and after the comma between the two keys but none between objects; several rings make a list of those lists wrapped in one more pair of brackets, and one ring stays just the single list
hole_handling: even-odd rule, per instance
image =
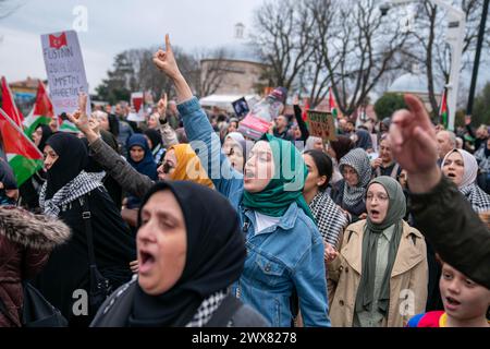
[{"label": "woman in open beige coat and grey-green hijab, wearing glasses", "polygon": [[392,178],[370,182],[366,207],[368,218],[347,227],[328,264],[335,285],[330,318],[336,327],[402,327],[425,311],[426,242],[403,221],[405,196]]}]

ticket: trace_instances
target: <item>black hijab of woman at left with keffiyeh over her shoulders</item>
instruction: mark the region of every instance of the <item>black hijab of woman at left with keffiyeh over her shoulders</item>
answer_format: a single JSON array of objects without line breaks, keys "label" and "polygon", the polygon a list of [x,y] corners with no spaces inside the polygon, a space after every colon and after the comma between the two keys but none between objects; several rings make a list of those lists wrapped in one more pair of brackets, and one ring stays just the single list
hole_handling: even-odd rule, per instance
[{"label": "black hijab of woman at left with keffiyeh over her shoulders", "polygon": [[46,200],[75,179],[88,165],[88,152],[82,140],[73,134],[58,132],[46,142],[59,156],[47,172]]}]

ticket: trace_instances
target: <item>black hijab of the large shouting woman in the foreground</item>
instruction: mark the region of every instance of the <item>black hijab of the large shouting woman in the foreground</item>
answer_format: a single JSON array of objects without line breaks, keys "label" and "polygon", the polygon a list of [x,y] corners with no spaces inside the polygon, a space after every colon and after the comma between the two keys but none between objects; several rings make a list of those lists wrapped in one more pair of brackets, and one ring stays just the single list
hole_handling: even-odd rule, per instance
[{"label": "black hijab of the large shouting woman in the foreground", "polygon": [[[236,212],[216,191],[193,182],[160,182],[143,201],[170,190],[184,214],[187,255],[184,272],[169,291],[149,296],[137,286],[130,326],[182,327],[189,323],[201,302],[226,289],[242,275],[246,250]],[[139,213],[138,224],[142,216]]]}]

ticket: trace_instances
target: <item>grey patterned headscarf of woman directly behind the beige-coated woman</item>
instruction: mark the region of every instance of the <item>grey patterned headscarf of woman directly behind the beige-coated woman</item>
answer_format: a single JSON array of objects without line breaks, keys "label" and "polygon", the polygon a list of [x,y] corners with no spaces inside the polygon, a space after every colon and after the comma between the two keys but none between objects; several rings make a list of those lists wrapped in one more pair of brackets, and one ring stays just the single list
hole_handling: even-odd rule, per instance
[{"label": "grey patterned headscarf of woman directly behind the beige-coated woman", "polygon": [[351,186],[347,183],[344,185],[344,204],[348,207],[356,206],[364,200],[366,194],[366,186],[371,179],[371,164],[369,156],[362,148],[356,148],[347,153],[339,165],[339,169],[343,172],[344,166],[351,166],[357,172],[359,182],[357,186]]}]

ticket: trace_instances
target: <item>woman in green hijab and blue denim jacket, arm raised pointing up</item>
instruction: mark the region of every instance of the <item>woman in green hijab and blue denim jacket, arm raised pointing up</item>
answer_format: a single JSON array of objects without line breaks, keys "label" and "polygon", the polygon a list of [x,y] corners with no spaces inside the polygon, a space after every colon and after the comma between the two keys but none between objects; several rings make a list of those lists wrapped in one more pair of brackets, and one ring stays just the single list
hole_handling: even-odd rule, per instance
[{"label": "woman in green hijab and blue denim jacket, arm raised pointing up", "polygon": [[[247,257],[234,294],[279,327],[292,324],[295,290],[305,326],[330,326],[323,241],[302,196],[307,170],[301,154],[292,143],[266,134],[244,173],[237,172],[181,74],[169,36],[154,62],[175,85],[187,139],[208,177],[238,213]],[[286,91],[277,88],[268,98],[285,101]]]}]

